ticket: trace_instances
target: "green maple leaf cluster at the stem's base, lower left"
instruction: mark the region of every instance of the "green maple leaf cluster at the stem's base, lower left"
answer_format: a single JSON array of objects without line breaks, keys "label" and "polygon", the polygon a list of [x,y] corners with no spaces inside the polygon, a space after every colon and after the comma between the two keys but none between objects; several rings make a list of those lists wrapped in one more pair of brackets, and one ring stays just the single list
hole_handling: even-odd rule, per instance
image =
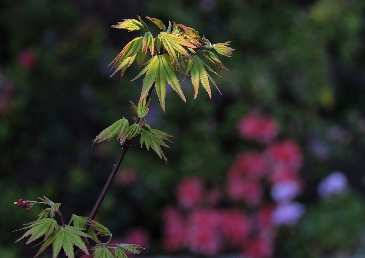
[{"label": "green maple leaf cluster at the stem's base, lower left", "polygon": [[[29,244],[43,237],[42,241],[37,244],[42,245],[34,257],[37,257],[50,245],[52,245],[53,258],[58,256],[61,249],[64,250],[68,258],[74,258],[75,246],[80,248],[80,250],[87,255],[89,255],[90,251],[92,256],[97,258],[126,258],[125,251],[139,253],[137,249],[141,248],[141,246],[135,244],[110,244],[112,238],[111,232],[100,223],[94,220],[88,220],[87,217],[80,217],[73,214],[68,225],[64,225],[63,223],[62,225],[59,225],[54,219],[54,216],[55,213],[58,213],[58,215],[61,216],[59,211],[60,204],[55,204],[44,196],[39,199],[44,202],[37,203],[48,204],[51,208],[42,210],[42,212],[39,213],[37,220],[25,224],[26,227],[24,228],[18,229],[28,230],[16,240],[16,242],[18,242],[29,236],[29,239],[26,242],[26,244]],[[86,223],[89,223],[90,227],[85,233],[83,227]],[[109,240],[106,243],[102,243],[99,236],[109,237]],[[91,248],[87,247],[87,244],[90,245],[89,239],[92,239],[96,243],[95,246],[92,246]],[[115,253],[113,253],[111,249],[115,249]]]}]

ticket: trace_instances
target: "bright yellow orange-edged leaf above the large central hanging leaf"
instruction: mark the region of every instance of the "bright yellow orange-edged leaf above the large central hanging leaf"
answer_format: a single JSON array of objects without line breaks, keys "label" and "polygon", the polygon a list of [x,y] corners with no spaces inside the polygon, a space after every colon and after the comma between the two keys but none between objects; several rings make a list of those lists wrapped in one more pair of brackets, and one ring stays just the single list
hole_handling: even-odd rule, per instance
[{"label": "bright yellow orange-edged leaf above the large central hanging leaf", "polygon": [[188,53],[188,51],[184,48],[184,46],[192,49],[195,49],[196,46],[194,46],[192,43],[190,43],[183,37],[163,31],[157,35],[157,38],[161,41],[162,45],[168,52],[169,56],[171,57],[171,60],[173,61],[173,64],[176,63],[178,65],[178,58],[180,58],[178,54],[184,55],[189,59],[192,59],[192,56]]}]

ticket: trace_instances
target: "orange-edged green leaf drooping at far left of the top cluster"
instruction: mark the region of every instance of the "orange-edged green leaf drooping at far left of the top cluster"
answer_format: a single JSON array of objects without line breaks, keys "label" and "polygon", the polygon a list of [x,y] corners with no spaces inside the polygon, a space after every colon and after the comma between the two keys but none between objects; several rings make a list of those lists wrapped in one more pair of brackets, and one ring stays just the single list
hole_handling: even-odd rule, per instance
[{"label": "orange-edged green leaf drooping at far left of the top cluster", "polygon": [[141,65],[146,59],[146,54],[142,51],[143,37],[134,38],[129,42],[118,56],[108,65],[112,64],[112,68],[116,68],[110,77],[120,70],[120,77],[124,75],[126,69],[137,59]]}]

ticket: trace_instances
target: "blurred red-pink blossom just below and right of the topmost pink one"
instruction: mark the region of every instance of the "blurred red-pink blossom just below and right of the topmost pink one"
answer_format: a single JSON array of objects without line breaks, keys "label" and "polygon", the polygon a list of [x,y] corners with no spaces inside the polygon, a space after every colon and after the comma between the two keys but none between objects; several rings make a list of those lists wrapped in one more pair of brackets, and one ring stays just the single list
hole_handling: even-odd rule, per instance
[{"label": "blurred red-pink blossom just below and right of the topmost pink one", "polygon": [[303,163],[303,154],[296,141],[284,140],[271,144],[266,151],[272,166],[289,167],[299,170]]}]

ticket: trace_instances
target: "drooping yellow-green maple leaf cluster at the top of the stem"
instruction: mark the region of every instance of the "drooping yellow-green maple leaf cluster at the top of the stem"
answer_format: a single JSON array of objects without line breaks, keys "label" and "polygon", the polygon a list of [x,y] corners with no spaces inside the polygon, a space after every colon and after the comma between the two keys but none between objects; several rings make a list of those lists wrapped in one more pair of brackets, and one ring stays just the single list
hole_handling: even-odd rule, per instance
[{"label": "drooping yellow-green maple leaf cluster at the top of the stem", "polygon": [[[151,87],[156,86],[158,99],[164,111],[167,83],[186,102],[176,72],[182,73],[185,77],[191,77],[195,91],[194,98],[197,97],[200,84],[203,85],[211,98],[210,81],[215,86],[216,84],[209,72],[218,74],[210,67],[210,64],[217,67],[221,72],[228,71],[212,50],[223,56],[230,57],[234,50],[228,46],[230,42],[211,44],[204,36],[200,37],[199,32],[193,28],[169,22],[166,29],[161,20],[146,18],[162,30],[156,37],[153,37],[147,24],[139,16],[139,20],[125,19],[123,22],[112,26],[128,31],[142,30],[145,34],[132,39],[110,63],[112,68],[116,68],[111,76],[120,71],[122,77],[134,61],[137,61],[140,68],[145,65],[142,71],[132,79],[133,81],[144,75],[139,101],[141,102],[146,98],[146,93],[149,92]],[[203,53],[207,62],[201,60],[198,53]],[[217,86],[216,88],[218,89]]]}]

